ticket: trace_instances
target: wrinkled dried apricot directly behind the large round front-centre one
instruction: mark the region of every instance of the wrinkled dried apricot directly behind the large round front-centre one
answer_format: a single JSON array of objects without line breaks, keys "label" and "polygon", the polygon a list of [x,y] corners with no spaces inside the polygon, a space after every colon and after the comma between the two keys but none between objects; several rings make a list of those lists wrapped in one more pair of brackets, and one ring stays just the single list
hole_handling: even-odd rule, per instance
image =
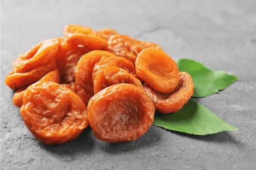
[{"label": "wrinkled dried apricot directly behind the large round front-centre one", "polygon": [[119,67],[105,67],[98,72],[94,79],[94,94],[108,86],[118,83],[134,84],[143,89],[141,82],[127,71]]}]

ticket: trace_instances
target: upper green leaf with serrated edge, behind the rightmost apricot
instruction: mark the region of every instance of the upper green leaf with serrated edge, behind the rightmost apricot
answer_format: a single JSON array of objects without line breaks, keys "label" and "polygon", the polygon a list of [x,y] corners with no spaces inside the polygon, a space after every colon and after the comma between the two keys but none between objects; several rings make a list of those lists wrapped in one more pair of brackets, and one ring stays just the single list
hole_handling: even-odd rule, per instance
[{"label": "upper green leaf with serrated edge, behind the rightmost apricot", "polygon": [[193,79],[193,97],[205,97],[217,93],[237,80],[236,76],[227,74],[224,71],[210,70],[201,63],[191,59],[179,59],[177,64],[179,71],[189,73]]}]

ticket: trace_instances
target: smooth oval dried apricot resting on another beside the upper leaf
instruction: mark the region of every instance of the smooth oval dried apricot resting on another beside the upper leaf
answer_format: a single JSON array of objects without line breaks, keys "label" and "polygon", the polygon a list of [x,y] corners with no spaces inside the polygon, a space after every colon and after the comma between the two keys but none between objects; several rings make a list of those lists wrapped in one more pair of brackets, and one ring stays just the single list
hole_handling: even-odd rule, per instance
[{"label": "smooth oval dried apricot resting on another beside the upper leaf", "polygon": [[138,77],[158,92],[171,93],[178,85],[178,66],[162,50],[142,50],[137,56],[135,68]]}]

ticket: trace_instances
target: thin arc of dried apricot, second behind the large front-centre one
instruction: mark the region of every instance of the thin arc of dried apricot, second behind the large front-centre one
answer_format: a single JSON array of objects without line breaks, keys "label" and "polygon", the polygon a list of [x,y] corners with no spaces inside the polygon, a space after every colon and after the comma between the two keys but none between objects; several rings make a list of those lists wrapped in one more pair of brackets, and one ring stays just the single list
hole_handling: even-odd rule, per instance
[{"label": "thin arc of dried apricot, second behind the large front-centre one", "polygon": [[92,72],[92,80],[95,79],[97,73],[105,67],[116,66],[136,76],[136,70],[134,65],[125,58],[122,57],[102,57],[101,60],[95,64]]}]

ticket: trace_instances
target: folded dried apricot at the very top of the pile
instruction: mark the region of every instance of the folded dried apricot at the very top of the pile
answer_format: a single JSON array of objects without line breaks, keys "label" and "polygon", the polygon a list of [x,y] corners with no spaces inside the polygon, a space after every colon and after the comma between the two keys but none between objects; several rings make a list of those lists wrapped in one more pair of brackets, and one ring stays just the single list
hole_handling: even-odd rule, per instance
[{"label": "folded dried apricot at the very top of the pile", "polygon": [[73,45],[84,45],[90,50],[107,49],[107,41],[97,36],[90,27],[81,25],[66,25],[64,36]]}]

